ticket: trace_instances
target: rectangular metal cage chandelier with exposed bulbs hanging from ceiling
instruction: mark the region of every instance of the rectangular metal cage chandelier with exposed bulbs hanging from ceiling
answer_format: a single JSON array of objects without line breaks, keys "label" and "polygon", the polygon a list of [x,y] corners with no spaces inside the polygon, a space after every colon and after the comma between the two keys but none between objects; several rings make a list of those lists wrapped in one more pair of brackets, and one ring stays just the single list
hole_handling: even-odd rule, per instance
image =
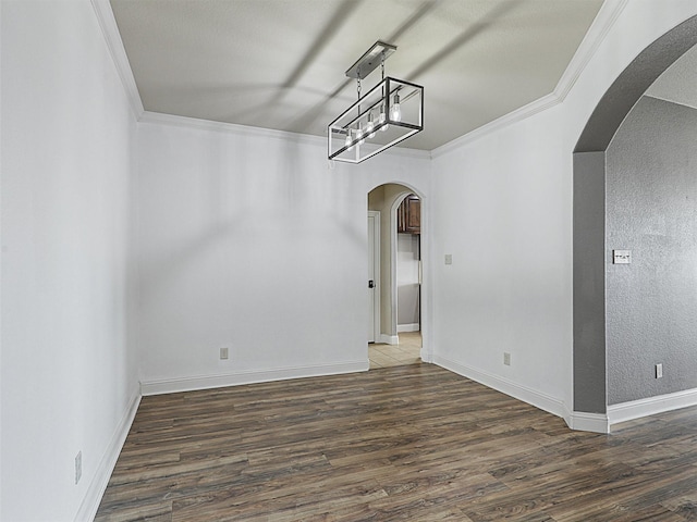
[{"label": "rectangular metal cage chandelier with exposed bulbs hanging from ceiling", "polygon": [[[377,41],[346,76],[355,78],[358,100],[328,125],[328,158],[362,161],[424,130],[424,87],[384,76],[384,60],[395,46]],[[382,80],[360,96],[360,80],[380,65]]]}]

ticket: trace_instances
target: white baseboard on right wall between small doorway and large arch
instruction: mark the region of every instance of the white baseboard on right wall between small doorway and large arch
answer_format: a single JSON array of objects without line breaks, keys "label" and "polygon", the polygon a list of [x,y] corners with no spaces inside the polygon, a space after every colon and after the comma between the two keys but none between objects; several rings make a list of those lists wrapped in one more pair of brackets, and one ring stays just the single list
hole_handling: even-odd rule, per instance
[{"label": "white baseboard on right wall between small doorway and large arch", "polygon": [[561,417],[562,419],[565,418],[565,413],[567,410],[564,406],[564,402],[557,399],[555,397],[542,394],[541,391],[528,388],[527,386],[522,386],[517,383],[500,377],[498,375],[493,375],[482,370],[476,370],[474,368],[465,366],[464,364],[460,364],[458,362],[451,361],[438,355],[433,355],[433,363],[444,368],[445,370],[450,370],[451,372],[454,372],[458,375],[465,376],[480,384],[484,384],[485,386],[522,400],[523,402],[527,402],[528,405],[539,408],[540,410],[552,413],[553,415]]}]

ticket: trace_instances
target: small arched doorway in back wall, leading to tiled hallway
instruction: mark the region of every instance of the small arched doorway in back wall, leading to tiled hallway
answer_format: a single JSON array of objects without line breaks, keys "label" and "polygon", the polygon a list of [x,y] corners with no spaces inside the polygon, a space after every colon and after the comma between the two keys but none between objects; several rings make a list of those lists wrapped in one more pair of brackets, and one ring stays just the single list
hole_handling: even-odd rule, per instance
[{"label": "small arched doorway in back wall, leading to tiled hallway", "polygon": [[[426,239],[421,238],[425,227],[405,229],[401,226],[398,229],[403,225],[404,219],[408,219],[404,214],[407,204],[412,206],[412,221],[417,215],[419,225],[423,224],[423,196],[416,189],[399,183],[380,185],[368,194],[368,212],[380,216],[380,283],[379,288],[376,288],[379,294],[380,334],[376,336],[372,347],[380,346],[386,355],[382,363],[371,359],[371,368],[418,362],[424,351],[427,320],[423,299],[421,251]],[[400,265],[402,272],[399,270]],[[413,307],[411,314],[406,310],[409,306]],[[407,315],[411,318],[408,322],[404,319]]]}]

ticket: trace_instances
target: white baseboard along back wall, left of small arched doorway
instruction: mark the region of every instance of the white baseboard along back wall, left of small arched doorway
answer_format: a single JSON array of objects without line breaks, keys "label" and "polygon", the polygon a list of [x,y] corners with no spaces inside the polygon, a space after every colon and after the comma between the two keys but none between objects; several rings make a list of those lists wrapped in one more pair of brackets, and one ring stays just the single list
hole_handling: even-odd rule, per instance
[{"label": "white baseboard along back wall, left of small arched doorway", "polygon": [[242,384],[267,383],[272,381],[288,381],[291,378],[317,377],[321,375],[337,375],[340,373],[366,372],[370,361],[344,362],[317,366],[280,368],[277,370],[248,371],[217,375],[194,375],[175,378],[162,378],[140,382],[140,393],[144,396],[191,391],[194,389],[221,388]]}]

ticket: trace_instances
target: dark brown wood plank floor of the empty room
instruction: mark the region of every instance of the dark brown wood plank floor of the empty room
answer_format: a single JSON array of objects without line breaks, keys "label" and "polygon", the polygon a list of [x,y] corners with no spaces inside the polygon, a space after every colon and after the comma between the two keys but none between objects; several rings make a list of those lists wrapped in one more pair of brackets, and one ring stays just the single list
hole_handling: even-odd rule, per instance
[{"label": "dark brown wood plank floor of the empty room", "polygon": [[697,520],[697,409],[572,432],[431,364],[145,397],[96,520]]}]

